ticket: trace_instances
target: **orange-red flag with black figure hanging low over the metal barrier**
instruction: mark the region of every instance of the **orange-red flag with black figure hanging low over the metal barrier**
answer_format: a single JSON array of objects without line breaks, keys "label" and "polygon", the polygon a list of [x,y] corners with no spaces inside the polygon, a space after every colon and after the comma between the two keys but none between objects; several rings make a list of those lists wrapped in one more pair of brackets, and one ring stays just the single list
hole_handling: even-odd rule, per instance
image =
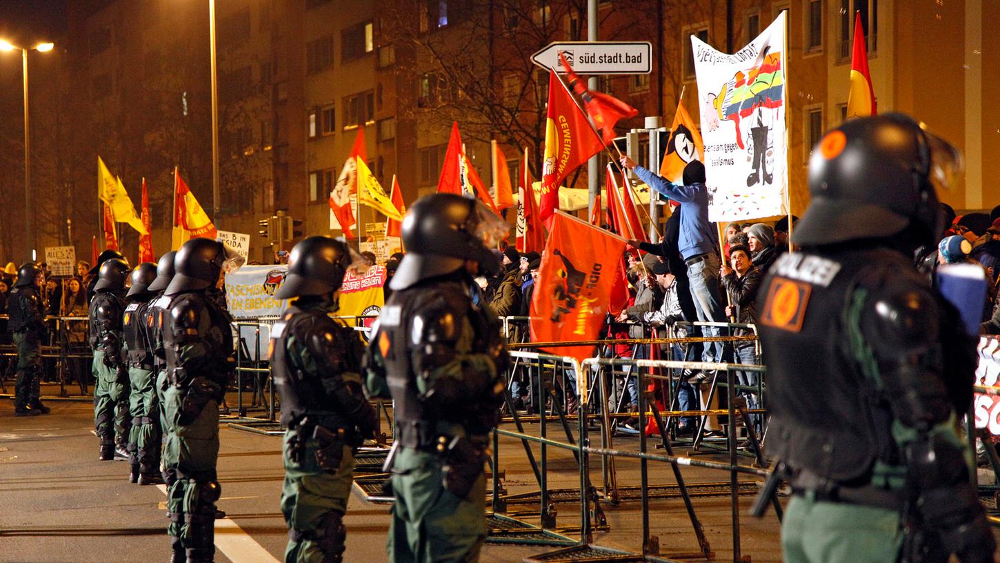
[{"label": "orange-red flag with black figure hanging low over the metal barrier", "polygon": [[[556,213],[531,302],[532,341],[597,338],[608,312],[611,288],[620,276],[624,251],[625,241],[621,238],[565,213]],[[546,350],[582,360],[593,355],[594,347],[554,346]],[[581,400],[585,396],[585,390],[581,390]]]}]

